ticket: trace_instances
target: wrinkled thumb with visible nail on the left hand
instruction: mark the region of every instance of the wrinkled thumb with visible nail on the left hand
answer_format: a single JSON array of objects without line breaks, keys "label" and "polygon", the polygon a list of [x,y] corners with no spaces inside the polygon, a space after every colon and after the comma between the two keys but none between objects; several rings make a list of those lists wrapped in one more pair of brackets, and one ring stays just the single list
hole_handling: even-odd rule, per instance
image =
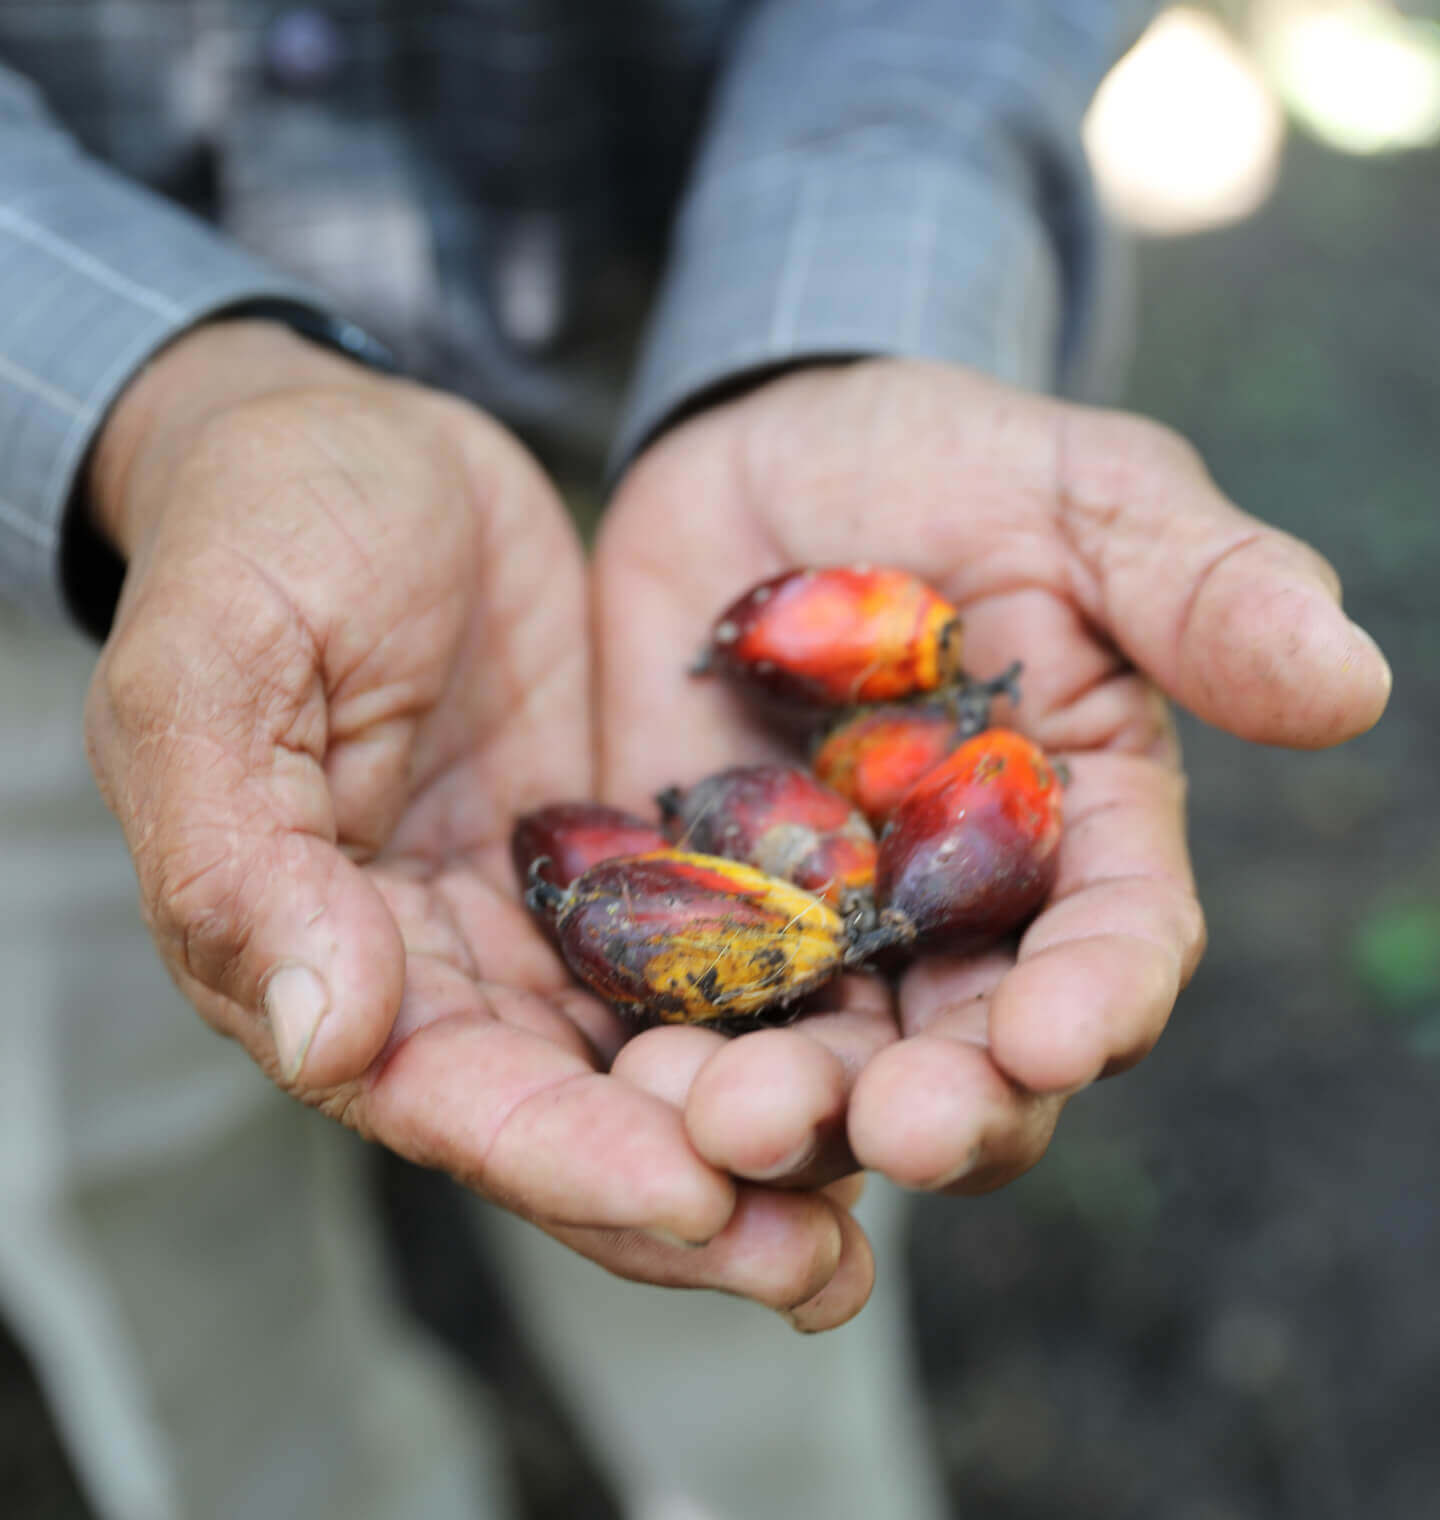
[{"label": "wrinkled thumb with visible nail on the left hand", "polygon": [[100,657],[91,763],[181,991],[278,1081],[319,1093],[380,1052],[400,932],[336,844],[313,640],[263,578],[187,570],[146,587]]}]

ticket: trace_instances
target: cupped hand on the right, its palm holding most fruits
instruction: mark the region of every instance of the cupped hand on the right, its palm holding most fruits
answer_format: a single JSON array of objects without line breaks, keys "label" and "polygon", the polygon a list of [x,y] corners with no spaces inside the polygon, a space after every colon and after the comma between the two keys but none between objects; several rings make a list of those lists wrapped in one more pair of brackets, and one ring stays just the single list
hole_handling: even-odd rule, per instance
[{"label": "cupped hand on the right, its palm holding most fruits", "polygon": [[953,366],[815,368],[681,423],[620,482],[596,565],[602,795],[634,806],[780,754],[690,657],[748,585],[865,561],[959,606],[976,676],[1023,661],[1010,720],[1072,772],[1051,900],[1017,950],[917,962],[894,1006],[848,979],[788,1029],[660,1029],[614,1069],[645,1082],[683,1041],[690,1084],[669,1096],[739,1176],[859,1164],[981,1192],[1039,1160],[1066,1096],[1148,1052],[1200,959],[1165,698],[1321,748],[1376,722],[1390,673],[1334,570],[1226,502],[1166,429]]}]

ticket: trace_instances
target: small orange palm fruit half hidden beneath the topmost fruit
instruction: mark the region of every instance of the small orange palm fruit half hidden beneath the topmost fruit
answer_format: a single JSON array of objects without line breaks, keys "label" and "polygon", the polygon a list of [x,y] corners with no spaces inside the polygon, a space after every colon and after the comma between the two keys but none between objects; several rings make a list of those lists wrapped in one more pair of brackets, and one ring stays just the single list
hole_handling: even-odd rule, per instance
[{"label": "small orange palm fruit half hidden beneath the topmost fruit", "polygon": [[842,717],[820,740],[810,765],[874,828],[952,749],[990,724],[998,696],[1019,702],[1019,661],[993,681],[966,681],[943,698],[882,702]]}]

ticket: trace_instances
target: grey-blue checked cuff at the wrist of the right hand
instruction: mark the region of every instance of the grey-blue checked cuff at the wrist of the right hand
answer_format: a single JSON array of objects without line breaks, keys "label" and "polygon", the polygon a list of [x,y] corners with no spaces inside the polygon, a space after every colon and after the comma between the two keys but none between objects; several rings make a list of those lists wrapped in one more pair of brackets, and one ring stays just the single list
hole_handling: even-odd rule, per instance
[{"label": "grey-blue checked cuff at the wrist of the right hand", "polygon": [[791,152],[709,181],[677,242],[617,436],[617,473],[748,371],[877,354],[1055,383],[1063,272],[1042,217],[964,163]]}]

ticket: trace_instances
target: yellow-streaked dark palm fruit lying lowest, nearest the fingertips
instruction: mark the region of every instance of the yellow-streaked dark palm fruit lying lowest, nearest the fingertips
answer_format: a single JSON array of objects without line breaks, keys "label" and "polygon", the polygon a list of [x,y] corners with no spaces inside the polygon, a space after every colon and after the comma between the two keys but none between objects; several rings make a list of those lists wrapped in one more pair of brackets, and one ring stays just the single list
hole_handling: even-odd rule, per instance
[{"label": "yellow-streaked dark palm fruit lying lowest, nearest the fingertips", "polygon": [[785,1011],[845,965],[845,923],[739,860],[663,850],[605,860],[561,889],[531,872],[566,964],[622,1014],[721,1023]]}]

